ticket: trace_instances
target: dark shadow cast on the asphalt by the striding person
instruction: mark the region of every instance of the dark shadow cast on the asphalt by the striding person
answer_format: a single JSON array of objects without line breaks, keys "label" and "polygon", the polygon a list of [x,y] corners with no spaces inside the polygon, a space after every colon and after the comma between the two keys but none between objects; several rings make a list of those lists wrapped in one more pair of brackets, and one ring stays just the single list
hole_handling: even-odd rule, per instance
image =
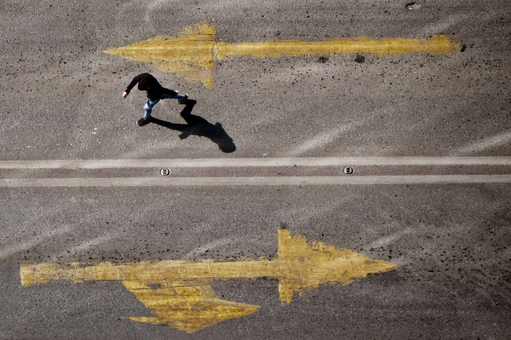
[{"label": "dark shadow cast on the asphalt by the striding person", "polygon": [[171,130],[181,131],[181,134],[179,135],[180,139],[188,138],[190,135],[206,137],[216,143],[218,148],[223,152],[228,153],[236,151],[236,145],[234,144],[233,138],[230,138],[227,132],[225,132],[222,124],[217,122],[213,125],[206,119],[192,114],[193,107],[197,104],[197,101],[189,99],[185,103],[186,105],[181,111],[181,117],[183,117],[188,124],[170,123],[154,117],[151,120],[151,123]]}]

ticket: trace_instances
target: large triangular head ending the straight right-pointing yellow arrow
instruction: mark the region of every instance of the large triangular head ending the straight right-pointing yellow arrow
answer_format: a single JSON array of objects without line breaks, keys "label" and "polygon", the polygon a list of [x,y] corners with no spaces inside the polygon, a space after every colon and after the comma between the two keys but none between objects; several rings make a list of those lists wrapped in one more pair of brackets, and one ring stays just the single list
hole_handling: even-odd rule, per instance
[{"label": "large triangular head ending the straight right-pointing yellow arrow", "polygon": [[290,303],[295,292],[317,288],[321,283],[342,285],[367,274],[387,272],[396,264],[371,259],[347,249],[337,249],[314,242],[312,246],[301,236],[278,230],[278,292],[282,303]]}]

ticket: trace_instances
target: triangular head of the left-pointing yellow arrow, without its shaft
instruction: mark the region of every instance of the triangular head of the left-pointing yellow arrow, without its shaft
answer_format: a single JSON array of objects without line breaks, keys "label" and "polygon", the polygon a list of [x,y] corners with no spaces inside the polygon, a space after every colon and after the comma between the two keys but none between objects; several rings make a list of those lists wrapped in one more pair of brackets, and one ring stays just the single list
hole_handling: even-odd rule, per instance
[{"label": "triangular head of the left-pointing yellow arrow, without its shaft", "polygon": [[216,61],[213,26],[198,25],[184,30],[177,39],[155,37],[104,52],[151,64],[190,82],[202,82],[207,88],[213,87]]}]

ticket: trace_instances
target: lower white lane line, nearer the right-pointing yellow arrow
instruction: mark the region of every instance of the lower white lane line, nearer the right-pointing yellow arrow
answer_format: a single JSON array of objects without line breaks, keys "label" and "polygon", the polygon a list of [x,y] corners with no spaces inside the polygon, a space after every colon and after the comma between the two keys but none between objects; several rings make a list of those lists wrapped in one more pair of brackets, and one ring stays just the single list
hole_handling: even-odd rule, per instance
[{"label": "lower white lane line, nearer the right-pointing yellow arrow", "polygon": [[511,175],[0,179],[0,187],[360,185],[439,183],[511,183]]}]

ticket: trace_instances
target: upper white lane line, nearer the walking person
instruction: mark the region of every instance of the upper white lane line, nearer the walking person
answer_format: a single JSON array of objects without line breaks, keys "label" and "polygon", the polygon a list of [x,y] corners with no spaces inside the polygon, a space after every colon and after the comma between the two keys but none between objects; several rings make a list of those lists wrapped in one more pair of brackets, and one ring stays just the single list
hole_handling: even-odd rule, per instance
[{"label": "upper white lane line, nearer the walking person", "polygon": [[324,157],[0,161],[0,169],[106,169],[134,167],[252,167],[346,165],[511,165],[511,157]]}]

